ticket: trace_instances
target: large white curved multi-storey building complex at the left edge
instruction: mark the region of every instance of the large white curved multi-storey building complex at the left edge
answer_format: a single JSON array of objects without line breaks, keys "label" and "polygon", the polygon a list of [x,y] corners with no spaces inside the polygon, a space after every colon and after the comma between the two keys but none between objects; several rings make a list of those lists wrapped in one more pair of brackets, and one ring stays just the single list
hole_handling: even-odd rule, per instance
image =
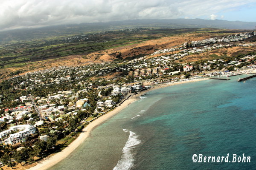
[{"label": "large white curved multi-storey building complex at the left edge", "polygon": [[[12,133],[17,131],[17,133]],[[5,130],[0,133],[0,139],[5,144],[16,144],[18,142],[25,142],[26,137],[35,133],[35,127],[33,125],[17,125],[11,127],[9,130]],[[9,136],[9,137],[8,137]]]}]

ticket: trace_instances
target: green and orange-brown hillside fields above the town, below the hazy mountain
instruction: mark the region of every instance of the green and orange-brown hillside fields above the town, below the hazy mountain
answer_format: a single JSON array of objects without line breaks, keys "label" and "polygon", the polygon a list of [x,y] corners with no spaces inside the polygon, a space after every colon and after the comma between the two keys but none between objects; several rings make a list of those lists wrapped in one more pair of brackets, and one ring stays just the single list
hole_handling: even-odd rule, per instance
[{"label": "green and orange-brown hillside fields above the town, below the hazy mountain", "polygon": [[[124,59],[132,60],[150,55],[158,49],[180,46],[187,41],[223,37],[239,32],[245,31],[217,28],[134,28],[16,42],[0,48],[0,76],[7,78],[59,65],[122,62]],[[250,49],[247,48],[246,51],[255,50]],[[238,51],[240,51],[239,47],[236,51],[230,51],[229,56]],[[217,50],[214,54],[221,56],[221,53],[218,54]],[[204,57],[191,55],[184,61],[207,59],[208,54],[204,55]],[[159,55],[151,57],[157,56]]]}]

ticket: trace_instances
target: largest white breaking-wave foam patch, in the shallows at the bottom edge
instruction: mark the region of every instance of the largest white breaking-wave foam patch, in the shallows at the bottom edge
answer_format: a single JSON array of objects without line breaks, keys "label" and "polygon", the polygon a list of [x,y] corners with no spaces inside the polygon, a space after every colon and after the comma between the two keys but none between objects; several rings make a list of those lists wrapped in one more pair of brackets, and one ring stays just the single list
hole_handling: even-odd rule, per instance
[{"label": "largest white breaking-wave foam patch, in the shallows at the bottom edge", "polygon": [[[125,132],[128,132],[128,130],[123,129]],[[122,150],[122,156],[119,159],[119,161],[116,164],[116,167],[113,168],[113,170],[129,170],[133,164],[134,164],[134,156],[131,152],[132,149],[140,144],[140,140],[138,139],[138,135],[136,133],[129,131],[130,135],[129,138],[125,144],[125,147]]]}]

